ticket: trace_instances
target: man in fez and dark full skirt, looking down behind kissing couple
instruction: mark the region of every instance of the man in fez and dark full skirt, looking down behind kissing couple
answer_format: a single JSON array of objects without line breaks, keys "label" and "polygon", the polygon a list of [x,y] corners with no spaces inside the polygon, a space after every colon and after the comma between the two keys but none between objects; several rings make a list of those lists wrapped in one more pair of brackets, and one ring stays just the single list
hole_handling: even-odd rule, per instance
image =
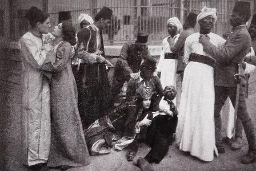
[{"label": "man in fez and dark full skirt, looking down behind kissing couple", "polygon": [[82,59],[77,78],[78,109],[84,129],[106,115],[110,108],[110,86],[101,30],[110,25],[112,13],[103,7],[95,16],[95,22],[77,34],[77,56]]}]

